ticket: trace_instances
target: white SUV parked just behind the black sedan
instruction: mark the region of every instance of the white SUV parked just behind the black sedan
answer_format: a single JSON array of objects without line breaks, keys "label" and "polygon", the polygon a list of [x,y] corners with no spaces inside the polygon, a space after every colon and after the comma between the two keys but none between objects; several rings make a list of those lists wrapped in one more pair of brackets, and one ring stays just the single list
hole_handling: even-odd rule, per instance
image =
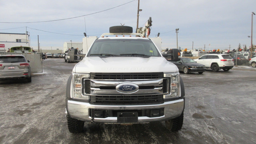
[{"label": "white SUV parked just behind the black sedan", "polygon": [[206,68],[211,68],[214,72],[220,69],[228,71],[234,67],[234,59],[228,54],[206,54],[195,61],[205,65]]}]

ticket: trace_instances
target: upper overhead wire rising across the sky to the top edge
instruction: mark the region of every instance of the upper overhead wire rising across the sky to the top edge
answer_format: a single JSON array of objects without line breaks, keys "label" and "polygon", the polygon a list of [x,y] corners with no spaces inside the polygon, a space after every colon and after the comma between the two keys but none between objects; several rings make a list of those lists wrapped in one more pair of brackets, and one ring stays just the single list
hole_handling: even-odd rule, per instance
[{"label": "upper overhead wire rising across the sky to the top edge", "polygon": [[[132,0],[130,2],[133,2],[135,0]],[[125,4],[128,4],[130,2],[127,2]],[[119,6],[123,6],[125,4],[121,4]],[[100,13],[100,12],[104,12],[104,11],[107,11],[107,10],[111,10],[113,8],[117,8],[119,6],[115,6],[115,7],[112,7],[112,8],[109,8],[109,9],[106,9],[106,10],[102,10],[102,11],[99,11],[99,12],[94,12],[94,13],[91,13],[91,14],[86,14],[86,15],[83,15],[83,16],[89,16],[89,15],[92,15],[92,14],[97,14],[97,13]],[[72,18],[79,18],[79,17],[82,17],[82,16],[76,16],[76,17],[72,17]],[[59,19],[59,20],[68,20],[68,19],[72,19],[72,18],[63,18],[63,19]],[[0,23],[8,23],[8,24],[25,24],[25,23],[39,23],[39,22],[54,22],[54,21],[59,21],[59,20],[46,20],[46,21],[38,21],[38,22],[0,22]]]}]

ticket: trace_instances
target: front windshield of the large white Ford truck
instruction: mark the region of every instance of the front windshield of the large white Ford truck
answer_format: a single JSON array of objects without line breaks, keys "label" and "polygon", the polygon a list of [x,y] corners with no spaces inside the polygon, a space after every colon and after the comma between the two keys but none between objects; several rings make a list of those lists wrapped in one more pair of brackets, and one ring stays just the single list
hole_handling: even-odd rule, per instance
[{"label": "front windshield of the large white Ford truck", "polygon": [[151,40],[105,39],[95,40],[88,56],[161,56]]}]

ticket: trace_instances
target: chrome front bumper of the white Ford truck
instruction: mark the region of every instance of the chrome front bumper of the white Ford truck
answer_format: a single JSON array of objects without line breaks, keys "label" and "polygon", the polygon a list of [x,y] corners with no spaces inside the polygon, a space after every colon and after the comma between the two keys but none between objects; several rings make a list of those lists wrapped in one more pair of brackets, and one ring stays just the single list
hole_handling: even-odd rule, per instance
[{"label": "chrome front bumper of the white Ford truck", "polygon": [[[154,105],[132,105],[132,106],[109,106],[109,105],[92,105],[88,102],[78,102],[74,100],[67,100],[66,114],[69,114],[71,118],[82,120],[85,122],[91,122],[92,117],[89,116],[89,109],[103,109],[103,110],[145,110],[153,108],[164,108],[164,116],[159,117],[147,117],[139,116],[138,123],[164,121],[180,116],[184,109],[184,99],[173,100],[164,102],[163,104]],[[94,122],[102,123],[117,123],[117,117],[107,118],[94,118]]]}]

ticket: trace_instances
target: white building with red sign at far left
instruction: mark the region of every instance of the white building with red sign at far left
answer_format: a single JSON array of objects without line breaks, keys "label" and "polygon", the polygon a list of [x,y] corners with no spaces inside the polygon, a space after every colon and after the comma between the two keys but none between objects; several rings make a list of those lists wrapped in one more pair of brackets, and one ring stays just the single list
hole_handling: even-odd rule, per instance
[{"label": "white building with red sign at far left", "polygon": [[0,52],[4,52],[8,48],[14,46],[28,46],[29,35],[28,34],[15,34],[15,33],[0,33]]}]

